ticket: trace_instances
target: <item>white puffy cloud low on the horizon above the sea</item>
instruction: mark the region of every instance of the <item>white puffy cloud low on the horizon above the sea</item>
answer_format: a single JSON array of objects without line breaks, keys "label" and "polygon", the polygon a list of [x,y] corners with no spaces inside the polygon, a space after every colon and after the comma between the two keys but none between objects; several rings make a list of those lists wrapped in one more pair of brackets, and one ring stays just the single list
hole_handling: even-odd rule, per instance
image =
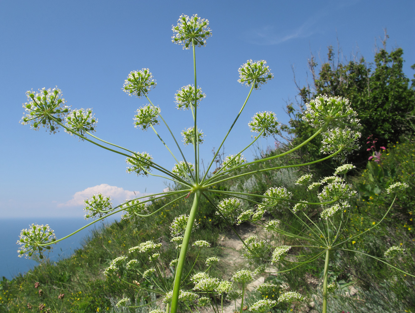
[{"label": "white puffy cloud low on the horizon above the sea", "polygon": [[82,191],[76,192],[72,199],[66,201],[65,203],[58,204],[59,207],[61,206],[83,206],[83,201],[93,194],[98,193],[103,194],[104,196],[109,196],[112,199],[121,202],[125,199],[133,199],[140,196],[143,196],[140,192],[134,192],[129,190],[124,190],[121,187],[117,186],[110,186],[109,184],[100,184],[94,187],[88,187]]}]

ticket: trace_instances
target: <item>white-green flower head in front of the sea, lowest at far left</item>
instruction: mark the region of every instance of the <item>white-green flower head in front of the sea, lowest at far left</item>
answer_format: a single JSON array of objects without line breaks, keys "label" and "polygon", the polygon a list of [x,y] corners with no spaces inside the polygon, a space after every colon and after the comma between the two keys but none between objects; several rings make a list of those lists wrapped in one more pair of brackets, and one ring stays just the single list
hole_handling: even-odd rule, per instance
[{"label": "white-green flower head in front of the sea, lowest at far left", "polygon": [[17,240],[17,244],[20,245],[19,257],[24,255],[25,258],[32,258],[33,254],[38,252],[39,258],[43,259],[42,250],[46,248],[51,249],[51,246],[40,247],[45,243],[53,243],[56,241],[56,236],[53,229],[49,228],[49,225],[32,224],[29,229],[22,229],[20,232],[20,239]]}]

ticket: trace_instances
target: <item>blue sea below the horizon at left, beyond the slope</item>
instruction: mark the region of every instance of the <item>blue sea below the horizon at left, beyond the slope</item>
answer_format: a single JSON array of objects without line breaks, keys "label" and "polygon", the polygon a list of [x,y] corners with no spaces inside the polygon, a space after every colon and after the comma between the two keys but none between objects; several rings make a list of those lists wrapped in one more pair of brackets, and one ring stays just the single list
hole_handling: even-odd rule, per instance
[{"label": "blue sea below the horizon at left, beyond the slope", "polygon": [[[105,221],[105,224],[112,223],[114,219]],[[16,244],[19,239],[20,231],[29,228],[32,223],[49,224],[49,227],[55,231],[56,239],[62,238],[73,231],[85,226],[89,221],[83,218],[2,218],[0,219],[0,279],[6,277],[12,279],[20,273],[24,274],[29,269],[34,268],[38,263],[34,260],[18,257]],[[49,252],[49,259],[58,261],[70,257],[76,249],[82,247],[85,238],[90,231],[103,226],[102,222],[95,223],[83,229],[79,233],[52,245],[53,249]],[[47,257],[47,252],[45,257]]]}]

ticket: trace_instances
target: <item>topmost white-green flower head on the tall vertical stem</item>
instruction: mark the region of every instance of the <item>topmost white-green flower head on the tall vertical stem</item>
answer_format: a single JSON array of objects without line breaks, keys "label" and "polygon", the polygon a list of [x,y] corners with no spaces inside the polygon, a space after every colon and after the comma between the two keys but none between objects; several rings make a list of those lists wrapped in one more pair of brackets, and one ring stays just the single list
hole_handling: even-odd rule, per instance
[{"label": "topmost white-green flower head on the tall vertical stem", "polygon": [[195,46],[204,46],[206,39],[212,36],[209,28],[209,21],[201,19],[197,14],[192,17],[180,15],[177,26],[172,25],[173,36],[171,41],[175,44],[183,45],[183,49],[190,49],[191,44]]}]

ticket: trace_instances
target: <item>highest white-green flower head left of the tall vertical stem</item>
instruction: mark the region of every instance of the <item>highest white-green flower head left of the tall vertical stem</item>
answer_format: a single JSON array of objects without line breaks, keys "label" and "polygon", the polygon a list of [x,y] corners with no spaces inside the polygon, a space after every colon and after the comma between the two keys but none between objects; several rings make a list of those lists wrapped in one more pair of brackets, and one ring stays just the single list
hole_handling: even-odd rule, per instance
[{"label": "highest white-green flower head left of the tall vertical stem", "polygon": [[136,95],[142,98],[146,95],[151,88],[156,87],[156,80],[153,79],[148,68],[142,68],[141,70],[133,70],[128,74],[128,78],[124,82],[122,89],[127,92],[129,96]]}]

